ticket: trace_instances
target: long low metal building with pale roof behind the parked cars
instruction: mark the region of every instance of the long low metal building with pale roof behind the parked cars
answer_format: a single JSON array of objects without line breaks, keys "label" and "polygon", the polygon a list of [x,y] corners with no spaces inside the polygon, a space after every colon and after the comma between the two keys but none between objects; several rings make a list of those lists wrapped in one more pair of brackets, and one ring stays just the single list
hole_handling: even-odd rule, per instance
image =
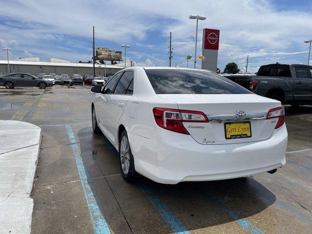
[{"label": "long low metal building with pale roof behind the parked cars", "polygon": [[[104,64],[96,64],[96,75],[104,75]],[[106,65],[106,76],[112,76],[117,71],[120,71],[123,67],[116,65]],[[0,60],[0,73],[8,72],[7,60]],[[93,74],[92,63],[71,63],[71,62],[33,62],[33,61],[10,61],[11,73],[30,73],[37,75],[38,73],[55,73],[57,75],[67,74],[72,76],[73,74],[79,74],[81,76],[85,74]]]}]

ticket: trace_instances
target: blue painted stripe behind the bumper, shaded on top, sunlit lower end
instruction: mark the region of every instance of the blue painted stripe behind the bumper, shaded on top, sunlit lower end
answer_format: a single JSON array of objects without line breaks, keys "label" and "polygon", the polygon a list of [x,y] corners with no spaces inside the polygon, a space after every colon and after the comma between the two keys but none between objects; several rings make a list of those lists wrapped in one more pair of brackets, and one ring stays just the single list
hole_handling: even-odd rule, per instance
[{"label": "blue painted stripe behind the bumper, shaded on top, sunlit lower end", "polygon": [[235,214],[231,209],[220,199],[218,199],[212,192],[208,191],[207,189],[202,188],[203,193],[216,205],[218,206],[223,212],[228,214],[232,217],[237,224],[241,227],[246,229],[252,234],[264,234],[261,230],[259,230],[252,222],[247,220],[246,218],[242,218],[239,215]]}]

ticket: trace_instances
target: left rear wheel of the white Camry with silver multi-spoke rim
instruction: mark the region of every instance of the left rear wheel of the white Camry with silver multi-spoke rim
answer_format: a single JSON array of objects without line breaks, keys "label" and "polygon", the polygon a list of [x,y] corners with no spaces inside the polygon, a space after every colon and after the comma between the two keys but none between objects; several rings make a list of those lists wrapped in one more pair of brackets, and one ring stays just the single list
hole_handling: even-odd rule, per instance
[{"label": "left rear wheel of the white Camry with silver multi-spoke rim", "polygon": [[119,137],[119,165],[124,180],[127,182],[133,181],[135,167],[126,130],[123,130]]}]

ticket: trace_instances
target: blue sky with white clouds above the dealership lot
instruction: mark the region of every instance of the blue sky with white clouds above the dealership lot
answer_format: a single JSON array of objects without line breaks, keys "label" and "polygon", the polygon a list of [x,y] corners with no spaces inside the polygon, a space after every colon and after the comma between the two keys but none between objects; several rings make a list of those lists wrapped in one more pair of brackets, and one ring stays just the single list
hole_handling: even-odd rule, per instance
[{"label": "blue sky with white clouds above the dealership lot", "polygon": [[[12,59],[88,61],[95,26],[96,47],[129,44],[127,60],[145,66],[168,66],[172,32],[172,64],[186,67],[195,50],[190,14],[207,17],[199,21],[197,55],[202,30],[220,29],[222,70],[228,62],[245,67],[247,55],[250,72],[266,63],[306,64],[304,40],[312,39],[311,0],[0,0],[0,6],[0,47],[11,48]],[[4,51],[0,59],[6,59]]]}]

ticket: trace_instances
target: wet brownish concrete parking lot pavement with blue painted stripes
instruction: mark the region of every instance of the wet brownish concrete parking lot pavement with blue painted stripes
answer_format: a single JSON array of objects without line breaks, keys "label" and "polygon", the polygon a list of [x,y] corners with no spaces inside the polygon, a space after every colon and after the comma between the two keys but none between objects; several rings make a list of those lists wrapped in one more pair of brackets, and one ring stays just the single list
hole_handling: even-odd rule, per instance
[{"label": "wet brownish concrete parking lot pavement with blue painted stripes", "polygon": [[0,88],[0,119],[42,128],[33,234],[311,233],[312,106],[286,107],[287,164],[273,175],[127,183],[115,148],[93,134],[90,88]]}]

